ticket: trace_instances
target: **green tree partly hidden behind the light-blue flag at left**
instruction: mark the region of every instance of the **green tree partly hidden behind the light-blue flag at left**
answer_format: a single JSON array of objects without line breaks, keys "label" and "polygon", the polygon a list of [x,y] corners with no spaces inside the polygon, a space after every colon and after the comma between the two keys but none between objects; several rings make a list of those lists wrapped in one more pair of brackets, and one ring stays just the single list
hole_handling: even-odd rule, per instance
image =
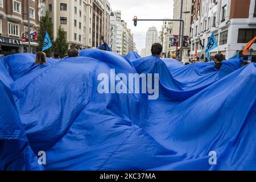
[{"label": "green tree partly hidden behind the light-blue flag at left", "polygon": [[[49,34],[49,38],[53,42],[53,24],[52,20],[49,18],[49,13],[46,12],[46,16],[42,16],[42,19],[39,22],[39,28],[38,28],[38,51],[42,51],[43,48],[43,42],[44,42],[44,36],[46,35],[46,31]],[[52,55],[52,49],[49,48],[46,51],[47,57],[51,57]]]}]

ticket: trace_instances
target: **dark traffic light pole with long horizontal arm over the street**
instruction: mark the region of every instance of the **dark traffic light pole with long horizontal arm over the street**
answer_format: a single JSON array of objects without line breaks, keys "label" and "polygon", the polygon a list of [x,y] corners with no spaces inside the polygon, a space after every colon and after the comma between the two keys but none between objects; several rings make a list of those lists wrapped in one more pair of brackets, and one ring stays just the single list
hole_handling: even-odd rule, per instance
[{"label": "dark traffic light pole with long horizontal arm over the street", "polygon": [[[134,21],[134,19],[133,19]],[[183,54],[183,37],[184,37],[184,26],[185,22],[183,19],[136,19],[137,21],[166,21],[166,22],[181,22],[181,36],[179,35],[180,38],[180,61],[182,61],[182,54]]]}]

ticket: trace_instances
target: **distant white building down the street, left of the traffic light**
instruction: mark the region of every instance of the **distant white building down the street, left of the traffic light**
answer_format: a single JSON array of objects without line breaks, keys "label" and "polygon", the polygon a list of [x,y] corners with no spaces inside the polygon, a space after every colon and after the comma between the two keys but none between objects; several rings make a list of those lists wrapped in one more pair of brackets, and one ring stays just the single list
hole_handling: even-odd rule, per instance
[{"label": "distant white building down the street, left of the traffic light", "polygon": [[[110,47],[112,51],[127,55],[130,51],[135,51],[135,43],[131,30],[127,28],[127,23],[121,18],[121,11],[113,11],[110,16]],[[114,37],[116,39],[114,40]]]}]

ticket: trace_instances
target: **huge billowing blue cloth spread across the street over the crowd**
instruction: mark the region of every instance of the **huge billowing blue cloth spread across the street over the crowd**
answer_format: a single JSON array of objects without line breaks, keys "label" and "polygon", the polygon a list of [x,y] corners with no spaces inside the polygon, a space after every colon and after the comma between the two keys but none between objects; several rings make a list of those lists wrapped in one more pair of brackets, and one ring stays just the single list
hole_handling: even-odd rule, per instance
[{"label": "huge billowing blue cloth spread across the street over the crowd", "polygon": [[[9,81],[28,144],[46,151],[46,170],[256,170],[256,64],[241,62],[218,71],[86,49]],[[158,73],[158,100],[98,93],[98,75],[110,69]]]}]

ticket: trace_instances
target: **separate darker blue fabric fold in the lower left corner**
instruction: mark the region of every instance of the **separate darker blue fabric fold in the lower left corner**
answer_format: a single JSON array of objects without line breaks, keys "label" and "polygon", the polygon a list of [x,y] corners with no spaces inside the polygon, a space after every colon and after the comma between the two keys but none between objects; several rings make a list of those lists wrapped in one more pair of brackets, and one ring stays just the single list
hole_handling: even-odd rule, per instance
[{"label": "separate darker blue fabric fold in the lower left corner", "polygon": [[43,170],[28,145],[11,90],[0,80],[0,170]]}]

